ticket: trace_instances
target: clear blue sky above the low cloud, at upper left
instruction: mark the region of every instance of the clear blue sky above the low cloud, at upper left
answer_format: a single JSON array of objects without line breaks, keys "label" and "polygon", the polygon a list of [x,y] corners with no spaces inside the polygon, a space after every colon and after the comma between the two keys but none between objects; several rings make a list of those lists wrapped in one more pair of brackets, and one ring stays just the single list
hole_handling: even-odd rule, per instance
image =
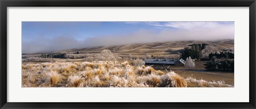
[{"label": "clear blue sky above the low cloud, at upper left", "polygon": [[22,41],[60,36],[84,40],[102,35],[129,34],[140,29],[161,30],[152,25],[129,22],[22,22]]}]

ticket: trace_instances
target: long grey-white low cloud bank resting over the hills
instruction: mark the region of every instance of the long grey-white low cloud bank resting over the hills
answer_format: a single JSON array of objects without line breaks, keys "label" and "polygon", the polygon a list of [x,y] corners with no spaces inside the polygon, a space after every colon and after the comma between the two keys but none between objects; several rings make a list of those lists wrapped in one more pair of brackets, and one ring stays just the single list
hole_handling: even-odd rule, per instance
[{"label": "long grey-white low cloud bank resting over the hills", "polygon": [[[180,26],[180,25],[177,25]],[[182,26],[182,25],[181,25]],[[159,27],[161,28],[161,26]],[[74,48],[116,46],[131,43],[150,43],[186,40],[234,39],[234,24],[211,27],[193,26],[191,28],[159,30],[138,30],[130,34],[102,35],[76,40],[74,36],[60,36],[53,39],[41,37],[22,42],[22,53],[51,52]]]}]

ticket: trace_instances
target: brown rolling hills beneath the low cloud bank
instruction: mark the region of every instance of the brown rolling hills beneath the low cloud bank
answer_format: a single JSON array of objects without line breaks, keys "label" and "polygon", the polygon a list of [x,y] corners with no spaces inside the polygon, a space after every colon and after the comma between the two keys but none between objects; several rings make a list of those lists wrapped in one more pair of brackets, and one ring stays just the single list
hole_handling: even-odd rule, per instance
[{"label": "brown rolling hills beneath the low cloud bank", "polygon": [[100,53],[104,49],[109,49],[113,53],[127,54],[127,53],[177,53],[184,47],[193,43],[206,43],[222,49],[234,49],[234,40],[218,40],[218,41],[174,41],[174,42],[154,42],[143,44],[126,44],[122,46],[108,46],[108,47],[92,47],[83,49],[69,49],[57,52],[82,52],[82,53]]}]

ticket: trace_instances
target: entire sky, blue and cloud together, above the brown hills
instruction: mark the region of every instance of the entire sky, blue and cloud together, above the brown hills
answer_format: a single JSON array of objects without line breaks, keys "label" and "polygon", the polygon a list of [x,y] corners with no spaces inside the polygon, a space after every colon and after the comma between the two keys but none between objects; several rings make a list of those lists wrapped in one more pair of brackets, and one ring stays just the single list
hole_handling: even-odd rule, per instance
[{"label": "entire sky, blue and cloud together, above the brown hills", "polygon": [[22,53],[234,39],[234,22],[22,22]]}]

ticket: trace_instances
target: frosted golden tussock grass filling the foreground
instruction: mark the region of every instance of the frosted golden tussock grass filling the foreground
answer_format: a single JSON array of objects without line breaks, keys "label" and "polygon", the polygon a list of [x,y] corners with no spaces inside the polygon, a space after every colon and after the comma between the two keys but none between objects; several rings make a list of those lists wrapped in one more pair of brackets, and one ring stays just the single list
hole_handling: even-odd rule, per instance
[{"label": "frosted golden tussock grass filling the foreground", "polygon": [[[178,72],[178,71],[177,71]],[[234,87],[130,62],[22,63],[22,87]]]}]

